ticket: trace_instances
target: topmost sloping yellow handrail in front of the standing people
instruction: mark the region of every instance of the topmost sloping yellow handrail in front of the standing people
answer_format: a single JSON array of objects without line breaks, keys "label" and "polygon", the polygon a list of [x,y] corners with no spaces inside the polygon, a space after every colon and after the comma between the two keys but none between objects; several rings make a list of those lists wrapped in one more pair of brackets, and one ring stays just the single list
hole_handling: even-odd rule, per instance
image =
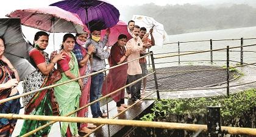
[{"label": "topmost sloping yellow handrail in front of the standing people", "polygon": [[141,56],[141,57],[139,57],[139,58],[136,58],[136,59],[134,59],[134,60],[130,60],[130,61],[127,61],[127,62],[125,62],[125,63],[121,63],[121,64],[116,65],[116,66],[112,66],[112,67],[107,68],[107,69],[102,69],[101,71],[93,72],[93,73],[91,73],[91,74],[89,74],[89,75],[86,75],[86,76],[77,77],[76,79],[71,79],[71,80],[68,80],[68,81],[66,81],[66,82],[62,82],[62,83],[58,83],[58,84],[46,86],[46,87],[44,87],[44,88],[40,88],[40,89],[38,89],[38,90],[34,90],[34,91],[27,92],[27,93],[23,93],[23,94],[20,94],[20,95],[17,95],[17,96],[8,97],[8,98],[6,98],[6,99],[0,100],[0,104],[3,104],[4,102],[8,102],[8,101],[10,101],[10,100],[19,99],[20,97],[28,96],[29,94],[38,93],[39,91],[47,90],[47,89],[49,89],[49,88],[54,88],[55,86],[59,86],[59,85],[63,85],[63,84],[69,83],[69,82],[73,82],[73,81],[79,80],[79,79],[83,79],[83,78],[85,78],[85,77],[90,77],[90,76],[93,76],[93,75],[98,74],[98,73],[100,73],[100,72],[104,72],[104,71],[107,71],[107,70],[109,70],[109,69],[113,69],[113,68],[116,68],[116,67],[118,67],[118,66],[125,65],[125,64],[127,64],[127,63],[129,63],[129,62],[132,62],[132,61],[135,61],[135,60],[139,60],[140,58],[144,58],[144,57],[147,57],[147,56],[149,56],[149,55],[151,55],[151,53],[149,53],[149,54],[147,54],[147,55],[144,55],[144,56]]}]

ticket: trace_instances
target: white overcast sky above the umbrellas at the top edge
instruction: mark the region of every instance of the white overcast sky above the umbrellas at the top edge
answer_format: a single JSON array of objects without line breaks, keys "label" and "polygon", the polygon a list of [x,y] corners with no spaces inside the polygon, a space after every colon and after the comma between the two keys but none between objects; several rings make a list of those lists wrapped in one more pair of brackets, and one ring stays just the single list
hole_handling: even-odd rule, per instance
[{"label": "white overcast sky above the umbrellas at the top edge", "polygon": [[[7,13],[12,12],[13,10],[17,9],[27,9],[27,8],[34,8],[34,7],[43,7],[54,2],[60,0],[7,0],[1,3],[0,8],[0,18],[4,18]],[[111,4],[115,5],[116,7],[124,6],[124,5],[141,5],[146,3],[155,3],[157,5],[166,5],[166,4],[185,4],[191,2],[199,2],[203,0],[107,0]]]}]

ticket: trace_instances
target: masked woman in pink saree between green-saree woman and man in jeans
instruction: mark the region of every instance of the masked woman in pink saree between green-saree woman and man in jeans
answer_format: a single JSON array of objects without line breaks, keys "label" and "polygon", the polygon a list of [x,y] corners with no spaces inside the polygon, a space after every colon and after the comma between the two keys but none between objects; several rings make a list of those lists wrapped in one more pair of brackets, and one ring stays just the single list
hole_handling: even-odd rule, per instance
[{"label": "masked woman in pink saree between green-saree woman and man in jeans", "polygon": [[[92,52],[94,51],[94,46],[90,45],[88,49],[85,49],[84,44],[87,41],[88,33],[77,33],[76,34],[76,44],[73,49],[73,53],[76,55],[77,62],[79,64],[80,76],[86,76],[91,73],[91,58],[93,57]],[[91,77],[85,77],[82,79],[84,83],[84,88],[81,90],[79,107],[84,107],[89,102],[90,97],[90,85]],[[87,118],[88,117],[88,107],[80,110],[77,116]],[[89,133],[91,130],[89,128],[96,127],[93,124],[83,123],[80,124],[80,132]]]}]

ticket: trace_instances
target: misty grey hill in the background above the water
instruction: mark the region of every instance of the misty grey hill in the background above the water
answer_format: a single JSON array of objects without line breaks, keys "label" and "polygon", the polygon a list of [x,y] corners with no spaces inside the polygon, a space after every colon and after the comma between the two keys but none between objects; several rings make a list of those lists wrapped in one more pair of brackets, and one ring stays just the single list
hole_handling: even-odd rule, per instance
[{"label": "misty grey hill in the background above the water", "polygon": [[120,7],[120,13],[124,21],[129,21],[133,14],[152,16],[164,24],[168,35],[256,25],[256,8],[247,4],[226,5],[229,6],[144,4]]}]

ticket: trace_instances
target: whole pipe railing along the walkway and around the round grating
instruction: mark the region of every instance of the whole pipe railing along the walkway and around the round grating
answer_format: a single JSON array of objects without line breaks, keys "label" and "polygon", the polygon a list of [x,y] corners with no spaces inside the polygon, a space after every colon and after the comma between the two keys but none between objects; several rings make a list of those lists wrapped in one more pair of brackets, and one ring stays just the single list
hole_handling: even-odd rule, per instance
[{"label": "whole pipe railing along the walkway and around the round grating", "polygon": [[[110,94],[107,94],[106,96],[103,96],[103,97],[101,97],[101,98],[99,98],[99,99],[97,99],[97,100],[94,100],[93,102],[90,102],[89,104],[87,104],[87,105],[85,105],[85,106],[83,106],[83,107],[80,107],[80,108],[77,108],[77,110],[74,110],[74,111],[71,111],[69,114],[66,114],[65,115],[65,119],[69,119],[70,121],[73,121],[73,119],[74,118],[66,118],[67,116],[70,116],[71,114],[74,114],[74,113],[77,113],[77,111],[79,111],[79,110],[82,110],[82,109],[84,109],[84,108],[86,108],[86,107],[88,107],[88,106],[90,106],[91,104],[94,104],[95,102],[98,102],[99,100],[102,100],[102,99],[107,99],[107,97],[109,97],[109,96],[111,96],[112,94],[115,94],[115,93],[118,93],[119,91],[121,91],[121,90],[123,90],[124,88],[126,88],[127,86],[130,86],[130,85],[132,85],[133,83],[137,83],[137,82],[139,82],[140,80],[142,80],[142,79],[144,79],[145,77],[148,77],[148,76],[150,76],[150,75],[152,75],[152,74],[154,74],[154,80],[155,80],[155,90],[153,90],[152,91],[152,93],[150,93],[150,94],[148,94],[146,97],[149,97],[151,94],[154,94],[154,93],[157,93],[157,99],[160,99],[160,94],[159,94],[159,91],[164,91],[164,90],[158,90],[158,83],[157,83],[157,74],[158,74],[158,72],[156,72],[156,69],[155,69],[155,64],[157,64],[157,63],[154,63],[154,60],[155,59],[159,59],[159,58],[168,58],[168,57],[180,57],[180,56],[182,56],[182,55],[191,55],[191,54],[201,54],[201,53],[204,53],[204,52],[210,52],[211,54],[210,54],[210,57],[211,57],[211,62],[213,62],[213,58],[212,58],[212,52],[213,51],[223,51],[223,50],[225,50],[226,51],[226,54],[227,54],[227,58],[226,58],[226,62],[227,62],[227,68],[222,68],[222,69],[226,69],[226,71],[227,71],[227,86],[225,86],[225,87],[220,87],[220,88],[226,88],[226,90],[227,90],[227,96],[229,96],[229,88],[230,87],[234,87],[234,86],[240,86],[240,85],[229,85],[229,69],[230,68],[237,68],[237,67],[241,67],[241,66],[247,66],[247,65],[255,65],[256,63],[245,63],[245,65],[243,65],[243,47],[249,47],[249,46],[256,46],[256,44],[250,44],[250,45],[243,45],[243,43],[242,43],[242,41],[243,40],[252,40],[252,39],[256,39],[256,38],[241,38],[241,39],[232,39],[232,40],[241,40],[241,45],[240,46],[235,46],[235,47],[229,47],[229,46],[227,46],[226,48],[222,48],[222,49],[212,49],[212,47],[210,47],[210,50],[209,51],[197,51],[197,52],[190,52],[190,53],[185,53],[185,54],[180,54],[181,52],[180,52],[180,49],[178,49],[179,51],[177,52],[177,55],[164,55],[164,56],[159,56],[159,57],[154,57],[154,55],[153,55],[153,52],[150,52],[148,55],[144,55],[144,56],[142,56],[142,57],[140,57],[140,58],[144,58],[144,57],[151,57],[151,62],[152,62],[152,68],[153,68],[153,72],[151,72],[150,74],[148,74],[147,76],[144,76],[144,77],[141,77],[141,79],[138,79],[138,80],[135,80],[134,82],[132,82],[132,83],[130,83],[130,84],[128,84],[128,85],[126,85],[126,86],[123,86],[122,88],[119,88],[118,90],[116,90],[116,91],[113,91],[112,93],[110,93]],[[179,47],[179,45],[180,45],[180,43],[192,43],[192,42],[201,42],[201,41],[206,41],[206,40],[200,40],[200,41],[185,41],[185,42],[178,42],[177,44],[178,44],[178,47]],[[207,40],[208,41],[208,40]],[[212,41],[226,41],[226,40],[210,40],[210,45],[212,45]],[[174,43],[169,43],[169,44],[174,44]],[[239,66],[233,66],[233,67],[230,67],[229,66],[229,52],[230,52],[230,49],[236,49],[236,48],[240,48],[241,49],[241,60],[240,60],[240,63],[241,63],[241,65],[239,65]],[[158,54],[158,55],[160,55],[160,54]],[[131,61],[135,61],[135,60],[139,60],[140,58],[136,58],[136,59],[134,59],[134,60],[131,60]],[[0,100],[0,104],[2,104],[2,103],[4,103],[4,102],[7,102],[7,101],[9,101],[9,100],[13,100],[13,99],[18,99],[18,98],[20,98],[20,97],[24,97],[24,96],[27,96],[27,95],[29,95],[29,94],[34,94],[34,93],[38,93],[39,91],[42,91],[42,90],[47,90],[47,89],[49,89],[49,88],[53,88],[53,87],[55,87],[55,86],[59,86],[59,85],[63,85],[63,84],[65,84],[65,83],[68,83],[68,82],[73,82],[73,81],[75,81],[75,80],[78,80],[78,79],[83,79],[83,78],[85,78],[85,77],[89,77],[89,76],[93,76],[93,75],[95,75],[95,74],[98,74],[98,73],[100,73],[100,72],[105,72],[105,71],[108,71],[109,69],[113,69],[113,68],[116,68],[116,67],[118,67],[118,66],[121,66],[121,65],[125,65],[125,64],[127,64],[127,63],[129,63],[129,62],[131,62],[131,61],[127,61],[127,62],[125,62],[125,63],[121,63],[120,65],[116,65],[116,66],[113,66],[113,67],[110,67],[110,68],[107,68],[107,69],[103,69],[103,70],[101,70],[101,71],[98,71],[98,72],[93,72],[93,73],[91,73],[91,74],[89,74],[89,75],[87,75],[87,76],[81,76],[81,77],[78,77],[78,78],[76,78],[76,79],[72,79],[72,80],[68,80],[68,81],[66,81],[66,82],[63,82],[63,83],[59,83],[59,84],[56,84],[56,85],[51,85],[51,86],[46,86],[46,87],[44,87],[44,88],[41,88],[41,89],[39,89],[39,90],[35,90],[35,91],[30,91],[29,93],[24,93],[24,94],[20,94],[20,95],[18,95],[18,96],[13,96],[13,97],[9,97],[9,98],[7,98],[7,99],[2,99],[2,100]],[[180,63],[180,58],[179,58],[179,61],[178,61],[179,63]],[[213,70],[213,69],[212,69]],[[199,69],[199,70],[191,70],[191,71],[186,71],[186,72],[194,72],[194,71],[212,71],[212,70],[210,70],[210,69]],[[216,70],[216,69],[214,69],[214,70]],[[173,71],[173,72],[178,72],[178,71]],[[182,72],[182,71],[179,71],[179,72]],[[184,72],[184,71],[183,71]],[[168,72],[168,73],[171,73],[171,72]],[[248,83],[246,83],[246,84],[249,84],[249,83],[254,83],[254,82],[248,82]],[[219,88],[197,88],[197,89],[182,89],[182,90],[212,90],[212,89],[219,89]],[[180,91],[180,90],[166,90],[166,91]],[[146,97],[144,97],[143,99],[146,99]],[[140,100],[143,100],[143,99],[140,99]],[[135,103],[136,104],[136,103]],[[133,105],[135,105],[135,104],[133,104]],[[131,108],[133,105],[131,105],[129,108]],[[129,109],[129,108],[126,108],[126,110],[127,109]],[[124,113],[126,110],[124,110],[124,111],[121,111],[120,113],[118,113],[118,114],[116,114],[116,116],[114,116],[112,119],[113,120],[110,120],[109,118],[108,119],[104,119],[104,121],[102,121],[102,119],[90,119],[90,118],[78,118],[79,119],[79,122],[92,122],[92,123],[94,123],[94,124],[118,124],[118,125],[136,125],[136,126],[142,126],[142,125],[139,125],[139,124],[134,124],[134,123],[137,123],[137,122],[133,122],[133,124],[127,124],[126,122],[124,122],[125,120],[117,120],[117,119],[114,119],[114,118],[116,118],[117,116],[119,116],[119,114],[122,114],[122,113]],[[108,102],[107,102],[107,112],[108,112]],[[7,115],[4,115],[4,114],[0,114],[0,118],[7,118],[7,117],[5,117],[5,116],[7,116]],[[34,116],[32,116],[32,117],[34,117]],[[9,117],[10,119],[32,119],[32,117],[21,117],[21,115],[16,115],[16,114],[11,114],[11,116]],[[41,119],[41,117],[40,116],[38,116],[38,118],[40,118],[40,120],[43,120],[43,119]],[[36,128],[35,130],[33,130],[33,131],[31,131],[31,132],[28,132],[28,133],[26,133],[25,135],[23,135],[23,136],[29,136],[29,135],[32,135],[33,133],[35,133],[35,132],[38,132],[39,130],[41,130],[41,129],[43,129],[43,128],[45,128],[45,127],[47,127],[47,126],[49,126],[49,125],[51,125],[51,124],[54,124],[56,121],[61,121],[59,118],[62,118],[62,117],[59,117],[58,118],[58,120],[54,120],[53,118],[56,118],[56,117],[50,117],[50,116],[46,116],[46,118],[52,118],[52,119],[44,119],[44,120],[46,120],[46,121],[51,121],[51,122],[49,122],[48,124],[45,124],[45,125],[43,125],[43,126],[41,126],[41,127],[38,127],[38,128]],[[72,120],[71,120],[72,119]],[[65,121],[69,121],[69,120],[65,120]],[[115,122],[112,122],[112,121],[115,121]],[[119,121],[119,122],[118,122]],[[122,122],[120,122],[120,121],[122,121]],[[78,121],[73,121],[73,122],[78,122]],[[144,121],[141,121],[141,122],[139,122],[139,123],[143,123]],[[143,125],[142,127],[144,127],[144,126],[148,126],[148,127],[158,127],[158,128],[169,128],[169,129],[183,129],[183,130],[193,130],[193,131],[198,131],[198,130],[207,130],[206,129],[206,127],[205,127],[205,125],[203,125],[203,126],[199,126],[199,127],[197,127],[197,128],[192,128],[193,126],[196,126],[196,125],[194,125],[194,124],[182,124],[182,125],[179,125],[179,124],[167,124],[168,125],[168,127],[165,127],[165,126],[163,126],[163,125],[165,125],[165,122],[160,122],[160,124],[158,124],[158,122],[155,122],[156,124],[147,124],[147,125]],[[154,126],[153,126],[154,125]],[[176,125],[179,125],[179,126],[177,126],[177,127],[175,127]],[[101,125],[102,126],[102,125]],[[97,127],[97,128],[95,128],[94,130],[93,130],[93,132],[94,131],[96,131],[98,128],[100,128],[101,126],[99,126],[99,127]],[[188,127],[188,128],[185,128],[185,127]],[[226,127],[222,127],[222,129],[225,129]],[[256,135],[256,131],[255,131],[255,129],[252,129],[252,128],[234,128],[234,127],[227,127],[227,129],[228,128],[230,128],[230,132],[229,133],[232,133],[232,134],[239,134],[239,133],[242,133],[242,134],[247,134],[247,135]],[[232,128],[232,129],[231,129]],[[232,131],[232,132],[231,132]],[[243,132],[243,131],[250,131],[250,132]],[[91,132],[91,133],[93,133],[93,132]],[[109,128],[108,128],[108,132],[109,132]],[[87,135],[85,135],[85,136],[89,136],[91,133],[88,133]]]}]

